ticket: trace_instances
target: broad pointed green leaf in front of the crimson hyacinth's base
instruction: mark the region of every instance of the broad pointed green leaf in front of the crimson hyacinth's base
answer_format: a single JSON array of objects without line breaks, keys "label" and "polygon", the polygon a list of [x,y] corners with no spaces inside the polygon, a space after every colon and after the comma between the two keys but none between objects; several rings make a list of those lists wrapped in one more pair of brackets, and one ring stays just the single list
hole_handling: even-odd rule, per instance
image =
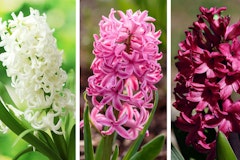
[{"label": "broad pointed green leaf in front of the crimson hyacinth's base", "polygon": [[217,137],[217,160],[237,160],[226,136],[222,133],[218,133]]}]

